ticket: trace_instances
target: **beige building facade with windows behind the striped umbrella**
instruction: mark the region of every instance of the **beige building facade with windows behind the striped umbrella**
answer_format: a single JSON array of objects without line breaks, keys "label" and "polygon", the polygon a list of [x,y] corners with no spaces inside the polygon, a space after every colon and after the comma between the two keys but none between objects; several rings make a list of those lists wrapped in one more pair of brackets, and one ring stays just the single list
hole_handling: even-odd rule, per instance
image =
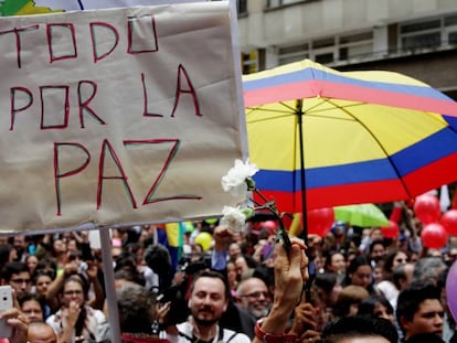
[{"label": "beige building facade with windows behind the striped umbrella", "polygon": [[456,0],[237,0],[243,73],[302,58],[386,69],[457,99]]}]

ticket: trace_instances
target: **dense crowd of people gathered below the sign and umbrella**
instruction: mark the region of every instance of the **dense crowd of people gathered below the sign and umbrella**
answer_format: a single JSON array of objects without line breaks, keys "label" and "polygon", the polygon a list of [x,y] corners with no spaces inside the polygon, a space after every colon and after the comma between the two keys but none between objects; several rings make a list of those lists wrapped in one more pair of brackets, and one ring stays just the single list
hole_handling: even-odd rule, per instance
[{"label": "dense crowd of people gathered below the sign and umbrella", "polygon": [[[398,237],[337,222],[307,246],[293,237],[290,249],[262,223],[234,233],[202,221],[176,262],[157,227],[113,229],[121,340],[456,342],[445,282],[457,237],[428,249],[412,208],[401,211]],[[196,243],[202,232],[209,248]],[[13,328],[2,340],[110,340],[102,254],[87,232],[0,237],[0,267],[17,300],[0,313]]]}]

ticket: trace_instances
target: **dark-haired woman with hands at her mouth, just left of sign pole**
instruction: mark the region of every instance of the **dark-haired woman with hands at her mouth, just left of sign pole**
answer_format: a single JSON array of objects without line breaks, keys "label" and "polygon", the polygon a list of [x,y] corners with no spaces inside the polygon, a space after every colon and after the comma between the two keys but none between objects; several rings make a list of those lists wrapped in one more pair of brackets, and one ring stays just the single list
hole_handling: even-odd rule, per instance
[{"label": "dark-haired woman with hands at her mouth, just left of sign pole", "polygon": [[65,278],[59,298],[61,309],[46,320],[57,335],[57,343],[85,340],[99,342],[108,339],[105,314],[86,303],[87,291],[81,278]]}]

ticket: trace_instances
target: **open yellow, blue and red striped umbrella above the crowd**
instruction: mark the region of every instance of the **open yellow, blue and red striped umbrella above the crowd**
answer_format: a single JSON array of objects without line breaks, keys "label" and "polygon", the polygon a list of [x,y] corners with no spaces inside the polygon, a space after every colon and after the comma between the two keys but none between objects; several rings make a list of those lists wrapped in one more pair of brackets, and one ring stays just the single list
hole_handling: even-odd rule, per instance
[{"label": "open yellow, blue and red striped umbrella above the crowd", "polygon": [[457,180],[457,103],[417,79],[305,60],[243,88],[256,185],[280,211],[407,200]]}]

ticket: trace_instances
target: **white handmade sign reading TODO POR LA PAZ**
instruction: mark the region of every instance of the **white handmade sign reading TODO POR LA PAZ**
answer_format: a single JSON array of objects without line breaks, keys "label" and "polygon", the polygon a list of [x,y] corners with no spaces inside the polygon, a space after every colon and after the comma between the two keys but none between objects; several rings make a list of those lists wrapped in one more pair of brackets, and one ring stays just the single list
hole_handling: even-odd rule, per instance
[{"label": "white handmade sign reading TODO POR LA PAZ", "polygon": [[236,202],[221,191],[245,140],[227,2],[4,17],[0,47],[0,233]]}]

